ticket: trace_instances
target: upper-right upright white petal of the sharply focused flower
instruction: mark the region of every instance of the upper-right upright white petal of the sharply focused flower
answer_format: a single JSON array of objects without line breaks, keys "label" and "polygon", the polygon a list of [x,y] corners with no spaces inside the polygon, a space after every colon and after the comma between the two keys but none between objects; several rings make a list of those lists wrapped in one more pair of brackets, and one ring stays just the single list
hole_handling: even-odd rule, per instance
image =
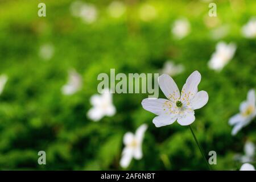
[{"label": "upper-right upright white petal of the sharply focused flower", "polygon": [[201,75],[198,71],[191,73],[191,75],[187,78],[187,81],[183,85],[181,91],[181,102],[189,101],[191,98],[195,96],[197,93],[197,86],[201,81]]}]

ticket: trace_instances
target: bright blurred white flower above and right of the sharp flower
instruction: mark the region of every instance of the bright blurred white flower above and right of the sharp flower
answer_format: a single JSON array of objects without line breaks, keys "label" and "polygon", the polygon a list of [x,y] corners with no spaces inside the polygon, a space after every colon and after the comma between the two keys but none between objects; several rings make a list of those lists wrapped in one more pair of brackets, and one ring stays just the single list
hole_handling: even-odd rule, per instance
[{"label": "bright blurred white flower above and right of the sharp flower", "polygon": [[216,46],[216,51],[212,54],[208,62],[208,66],[216,71],[221,71],[226,64],[233,58],[236,52],[236,44],[219,42]]}]

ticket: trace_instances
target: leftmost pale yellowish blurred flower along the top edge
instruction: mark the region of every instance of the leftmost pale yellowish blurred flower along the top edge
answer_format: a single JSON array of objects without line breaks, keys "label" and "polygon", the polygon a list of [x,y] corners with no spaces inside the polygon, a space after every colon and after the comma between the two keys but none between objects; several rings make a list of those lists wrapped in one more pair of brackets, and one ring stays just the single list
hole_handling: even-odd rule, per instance
[{"label": "leftmost pale yellowish blurred flower along the top edge", "polygon": [[97,19],[98,11],[92,4],[75,1],[71,4],[71,14],[81,18],[85,23],[93,23]]}]

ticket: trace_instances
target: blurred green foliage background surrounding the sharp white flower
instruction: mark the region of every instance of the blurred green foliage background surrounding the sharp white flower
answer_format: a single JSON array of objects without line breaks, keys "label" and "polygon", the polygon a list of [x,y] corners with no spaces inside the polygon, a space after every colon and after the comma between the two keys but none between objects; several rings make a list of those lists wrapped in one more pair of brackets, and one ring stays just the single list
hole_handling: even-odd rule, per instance
[{"label": "blurred green foliage background surrounding the sharp white flower", "polygon": [[[46,17],[38,16],[40,2]],[[210,2],[217,5],[216,17],[208,15]],[[143,123],[143,158],[127,169],[208,169],[188,127],[155,127],[155,115],[141,106],[148,94],[115,93],[112,117],[88,117],[97,76],[110,68],[167,72],[180,89],[198,70],[199,90],[209,101],[196,110],[192,127],[205,152],[217,152],[213,169],[239,169],[236,156],[245,155],[246,142],[256,142],[255,119],[235,136],[228,121],[256,88],[256,41],[243,32],[255,10],[254,0],[1,0],[0,169],[123,169],[123,135]],[[236,51],[214,70],[209,60],[222,41]],[[42,150],[46,165],[38,164]]]}]

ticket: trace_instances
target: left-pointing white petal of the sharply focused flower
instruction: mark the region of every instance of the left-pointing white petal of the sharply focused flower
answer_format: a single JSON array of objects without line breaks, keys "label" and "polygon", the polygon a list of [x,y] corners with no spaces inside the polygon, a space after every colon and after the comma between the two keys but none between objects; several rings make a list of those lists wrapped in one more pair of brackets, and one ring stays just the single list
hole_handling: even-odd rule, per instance
[{"label": "left-pointing white petal of the sharply focused flower", "polygon": [[141,104],[145,110],[156,115],[168,114],[170,112],[175,113],[177,109],[175,104],[163,98],[145,98]]}]

